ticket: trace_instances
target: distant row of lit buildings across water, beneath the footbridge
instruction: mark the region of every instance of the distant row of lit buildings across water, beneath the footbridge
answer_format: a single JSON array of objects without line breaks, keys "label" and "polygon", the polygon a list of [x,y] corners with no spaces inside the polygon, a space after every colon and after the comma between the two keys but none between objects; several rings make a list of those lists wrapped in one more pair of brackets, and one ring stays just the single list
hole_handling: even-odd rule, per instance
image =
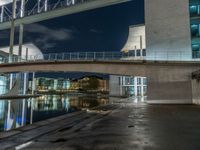
[{"label": "distant row of lit buildings across water, beneath the footbridge", "polygon": [[[69,78],[35,78],[35,90],[44,91],[70,91],[70,90],[95,90],[108,91],[108,82],[106,79],[87,76],[79,79]],[[95,83],[94,83],[95,82]],[[32,80],[29,81],[29,89],[32,90]]]}]

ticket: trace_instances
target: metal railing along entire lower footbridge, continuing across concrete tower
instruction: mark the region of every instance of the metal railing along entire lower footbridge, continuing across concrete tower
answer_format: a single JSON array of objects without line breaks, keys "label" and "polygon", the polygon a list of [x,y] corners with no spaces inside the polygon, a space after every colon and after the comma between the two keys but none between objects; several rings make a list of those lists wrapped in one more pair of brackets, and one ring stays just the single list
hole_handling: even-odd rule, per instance
[{"label": "metal railing along entire lower footbridge, continuing across concrete tower", "polygon": [[[199,54],[199,53],[198,53]],[[193,53],[194,55],[194,53]],[[199,55],[200,56],[200,55]],[[192,53],[181,51],[154,51],[146,54],[146,50],[124,52],[68,52],[49,53],[42,55],[16,56],[9,62],[8,58],[0,57],[0,63],[34,62],[34,61],[194,61],[200,62],[200,58],[192,58]]]}]

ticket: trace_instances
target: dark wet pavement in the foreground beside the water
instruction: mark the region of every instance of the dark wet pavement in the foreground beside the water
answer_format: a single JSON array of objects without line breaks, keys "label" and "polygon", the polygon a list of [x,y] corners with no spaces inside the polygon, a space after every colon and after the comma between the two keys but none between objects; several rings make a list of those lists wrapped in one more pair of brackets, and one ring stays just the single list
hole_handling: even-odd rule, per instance
[{"label": "dark wet pavement in the foreground beside the water", "polygon": [[121,100],[12,132],[0,149],[199,150],[200,106]]}]

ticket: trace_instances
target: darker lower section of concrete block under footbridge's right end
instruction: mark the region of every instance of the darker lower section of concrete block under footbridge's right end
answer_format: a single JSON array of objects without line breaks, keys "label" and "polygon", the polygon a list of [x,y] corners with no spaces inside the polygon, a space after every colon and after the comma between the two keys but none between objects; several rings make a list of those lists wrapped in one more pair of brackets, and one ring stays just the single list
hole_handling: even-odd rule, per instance
[{"label": "darker lower section of concrete block under footbridge's right end", "polygon": [[147,102],[150,104],[192,104],[191,80],[147,81]]}]

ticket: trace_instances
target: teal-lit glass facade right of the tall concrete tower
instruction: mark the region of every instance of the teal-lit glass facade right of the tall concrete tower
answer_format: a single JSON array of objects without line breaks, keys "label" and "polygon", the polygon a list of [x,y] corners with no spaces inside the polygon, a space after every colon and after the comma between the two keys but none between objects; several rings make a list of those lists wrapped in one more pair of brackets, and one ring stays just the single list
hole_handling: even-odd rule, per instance
[{"label": "teal-lit glass facade right of the tall concrete tower", "polygon": [[190,29],[193,58],[200,58],[200,1],[190,0]]}]

